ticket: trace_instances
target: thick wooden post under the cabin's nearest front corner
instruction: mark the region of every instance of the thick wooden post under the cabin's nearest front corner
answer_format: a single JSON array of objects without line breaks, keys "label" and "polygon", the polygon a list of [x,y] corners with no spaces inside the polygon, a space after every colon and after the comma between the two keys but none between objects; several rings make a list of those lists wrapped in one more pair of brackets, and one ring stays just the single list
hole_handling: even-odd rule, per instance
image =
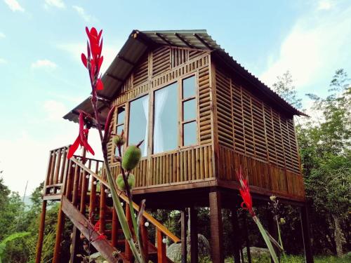
[{"label": "thick wooden post under the cabin's nearest front corner", "polygon": [[211,191],[209,194],[210,203],[210,224],[211,224],[211,254],[213,263],[223,263],[223,222],[222,205],[219,191]]}]

